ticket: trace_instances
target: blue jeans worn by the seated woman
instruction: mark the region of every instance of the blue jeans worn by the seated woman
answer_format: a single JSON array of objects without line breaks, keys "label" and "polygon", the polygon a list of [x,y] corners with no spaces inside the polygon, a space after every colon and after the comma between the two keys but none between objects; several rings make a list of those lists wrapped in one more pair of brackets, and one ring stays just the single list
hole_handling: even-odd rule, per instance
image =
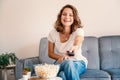
[{"label": "blue jeans worn by the seated woman", "polygon": [[86,70],[85,62],[82,60],[64,60],[60,64],[58,76],[63,80],[80,80],[80,75]]}]

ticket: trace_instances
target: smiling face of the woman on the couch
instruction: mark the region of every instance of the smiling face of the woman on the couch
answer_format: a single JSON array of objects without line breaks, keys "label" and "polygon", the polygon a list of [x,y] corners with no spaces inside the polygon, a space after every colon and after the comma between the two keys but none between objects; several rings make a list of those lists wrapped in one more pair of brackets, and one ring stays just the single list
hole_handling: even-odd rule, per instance
[{"label": "smiling face of the woman on the couch", "polygon": [[70,8],[65,8],[61,15],[61,23],[65,27],[70,27],[73,24],[73,12]]}]

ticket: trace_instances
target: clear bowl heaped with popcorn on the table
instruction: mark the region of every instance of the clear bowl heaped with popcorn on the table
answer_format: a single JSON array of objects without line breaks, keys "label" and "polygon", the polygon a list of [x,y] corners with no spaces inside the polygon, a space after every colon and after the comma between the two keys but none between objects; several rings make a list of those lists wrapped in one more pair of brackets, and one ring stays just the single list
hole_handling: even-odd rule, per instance
[{"label": "clear bowl heaped with popcorn on the table", "polygon": [[40,64],[35,65],[35,73],[40,78],[55,78],[59,71],[59,65]]}]

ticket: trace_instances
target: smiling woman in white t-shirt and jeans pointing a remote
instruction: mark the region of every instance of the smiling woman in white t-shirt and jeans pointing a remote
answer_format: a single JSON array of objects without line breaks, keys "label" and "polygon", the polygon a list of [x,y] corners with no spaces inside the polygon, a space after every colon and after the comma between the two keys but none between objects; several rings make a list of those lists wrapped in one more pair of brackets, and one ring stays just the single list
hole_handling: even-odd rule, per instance
[{"label": "smiling woman in white t-shirt and jeans pointing a remote", "polygon": [[[87,68],[81,46],[84,31],[77,9],[65,5],[58,14],[54,29],[48,35],[48,55],[60,64],[58,76],[63,80],[79,80]],[[73,55],[68,55],[72,52]]]}]

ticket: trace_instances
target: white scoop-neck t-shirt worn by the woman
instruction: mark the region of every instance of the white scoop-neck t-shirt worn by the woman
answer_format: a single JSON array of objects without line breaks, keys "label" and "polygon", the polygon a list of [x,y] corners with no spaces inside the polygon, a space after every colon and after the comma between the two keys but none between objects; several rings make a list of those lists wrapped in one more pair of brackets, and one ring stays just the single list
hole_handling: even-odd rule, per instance
[{"label": "white scoop-neck t-shirt worn by the woman", "polygon": [[[56,29],[53,29],[48,35],[48,40],[55,44],[55,53],[59,55],[64,55],[66,51],[69,51],[73,47],[74,39],[77,35],[81,35],[84,37],[84,30],[82,28],[78,28],[70,35],[69,39],[66,42],[61,42],[59,32],[57,32]],[[84,56],[82,56],[81,46],[82,43],[79,46],[76,60],[83,60],[87,65],[88,61]]]}]

